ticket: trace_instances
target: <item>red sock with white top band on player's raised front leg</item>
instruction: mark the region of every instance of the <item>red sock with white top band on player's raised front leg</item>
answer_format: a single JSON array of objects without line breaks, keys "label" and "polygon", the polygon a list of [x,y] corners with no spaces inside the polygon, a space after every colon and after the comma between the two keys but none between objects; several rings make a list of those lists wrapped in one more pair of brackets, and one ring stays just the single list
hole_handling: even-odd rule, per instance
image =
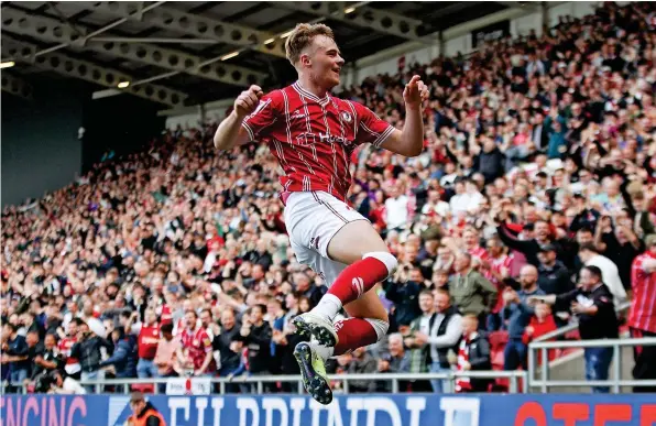
[{"label": "red sock with white top band on player's raised front leg", "polygon": [[328,294],[339,298],[341,305],[357,301],[378,282],[387,277],[387,266],[375,258],[364,258],[349,265],[339,274]]}]

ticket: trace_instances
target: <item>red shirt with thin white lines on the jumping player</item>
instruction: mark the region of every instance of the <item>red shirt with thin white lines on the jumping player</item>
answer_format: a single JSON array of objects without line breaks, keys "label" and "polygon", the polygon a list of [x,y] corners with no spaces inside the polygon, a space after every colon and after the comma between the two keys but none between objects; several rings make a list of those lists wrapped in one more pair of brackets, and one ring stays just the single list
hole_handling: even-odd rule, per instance
[{"label": "red shirt with thin white lines on the jumping player", "polygon": [[341,200],[353,151],[367,142],[380,146],[394,131],[369,108],[329,94],[320,99],[298,83],[262,97],[242,125],[269,144],[285,173],[284,192],[324,190]]}]

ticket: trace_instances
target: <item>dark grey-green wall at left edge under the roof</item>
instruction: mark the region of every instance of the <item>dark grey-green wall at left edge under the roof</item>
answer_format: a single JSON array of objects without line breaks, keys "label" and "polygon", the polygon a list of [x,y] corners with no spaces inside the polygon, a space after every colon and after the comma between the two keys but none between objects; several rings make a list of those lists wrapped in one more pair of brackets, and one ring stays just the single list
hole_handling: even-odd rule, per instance
[{"label": "dark grey-green wall at left edge under the roof", "polygon": [[84,85],[32,84],[32,100],[2,92],[3,206],[41,198],[81,172]]}]

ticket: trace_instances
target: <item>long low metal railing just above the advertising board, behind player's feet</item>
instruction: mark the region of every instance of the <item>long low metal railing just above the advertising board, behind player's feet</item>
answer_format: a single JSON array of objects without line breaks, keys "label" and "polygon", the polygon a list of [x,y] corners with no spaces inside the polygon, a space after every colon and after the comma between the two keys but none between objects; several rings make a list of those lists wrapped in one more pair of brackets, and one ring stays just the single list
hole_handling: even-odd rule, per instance
[{"label": "long low metal railing just above the advertising board, behind player's feet", "polygon": [[[376,374],[334,374],[329,376],[331,382],[340,382],[341,390],[339,392],[348,394],[349,383],[353,381],[376,381],[376,382],[392,382],[391,392],[400,393],[400,382],[408,381],[430,381],[442,380],[445,384],[445,393],[452,392],[457,379],[509,379],[509,393],[520,393],[520,381],[526,383],[526,371],[452,371],[444,373],[376,373]],[[193,380],[193,378],[192,378]],[[114,387],[114,392],[129,393],[132,385],[153,385],[153,392],[158,393],[160,386],[165,385],[168,379],[105,379],[94,381],[80,381],[83,386],[92,386],[95,393],[102,393],[107,386]],[[254,384],[255,391],[261,394],[264,393],[265,383],[296,383],[296,392],[298,394],[305,393],[303,380],[300,375],[254,375],[254,376],[234,376],[234,378],[211,378],[211,383],[218,384],[219,394],[230,394],[232,385],[238,384]],[[120,391],[119,391],[120,389]],[[338,391],[336,391],[338,392]],[[23,387],[23,393],[26,393],[26,387]]]}]

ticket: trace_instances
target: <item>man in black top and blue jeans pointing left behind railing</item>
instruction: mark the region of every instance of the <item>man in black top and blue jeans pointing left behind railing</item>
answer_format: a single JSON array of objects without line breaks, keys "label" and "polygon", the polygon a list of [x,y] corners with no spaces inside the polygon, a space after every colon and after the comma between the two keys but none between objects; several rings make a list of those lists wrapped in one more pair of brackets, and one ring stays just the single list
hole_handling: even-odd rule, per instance
[{"label": "man in black top and blue jeans pointing left behind railing", "polygon": [[[599,267],[587,265],[579,275],[580,286],[561,295],[532,296],[528,304],[539,301],[548,304],[570,307],[579,318],[579,335],[582,340],[617,339],[620,324],[613,305],[613,294],[602,282]],[[613,348],[586,348],[586,379],[608,380],[609,368],[613,360]],[[594,393],[608,393],[608,386],[593,386]]]}]

